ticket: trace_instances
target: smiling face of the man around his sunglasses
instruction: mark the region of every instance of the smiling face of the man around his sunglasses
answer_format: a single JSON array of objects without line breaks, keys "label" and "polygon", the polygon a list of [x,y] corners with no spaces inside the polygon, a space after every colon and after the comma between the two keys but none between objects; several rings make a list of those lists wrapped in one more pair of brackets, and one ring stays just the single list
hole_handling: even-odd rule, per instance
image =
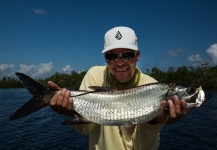
[{"label": "smiling face of the man around his sunglasses", "polygon": [[[119,48],[111,50],[107,53],[121,53],[129,51],[133,52],[132,50]],[[133,78],[136,69],[136,62],[139,61],[139,58],[140,51],[137,51],[136,56],[133,59],[125,61],[121,58],[121,56],[118,56],[116,61],[106,60],[106,63],[108,64],[109,71],[111,72],[113,78],[119,83],[125,83]]]}]

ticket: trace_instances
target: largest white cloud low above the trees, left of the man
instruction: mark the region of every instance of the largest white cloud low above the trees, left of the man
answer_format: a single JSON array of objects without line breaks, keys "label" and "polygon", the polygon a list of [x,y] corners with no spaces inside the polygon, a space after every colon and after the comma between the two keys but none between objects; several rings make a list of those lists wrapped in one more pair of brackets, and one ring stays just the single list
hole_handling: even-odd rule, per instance
[{"label": "largest white cloud low above the trees, left of the man", "polygon": [[41,63],[39,65],[20,64],[18,72],[29,74],[33,78],[45,78],[51,75],[53,71],[53,63]]}]

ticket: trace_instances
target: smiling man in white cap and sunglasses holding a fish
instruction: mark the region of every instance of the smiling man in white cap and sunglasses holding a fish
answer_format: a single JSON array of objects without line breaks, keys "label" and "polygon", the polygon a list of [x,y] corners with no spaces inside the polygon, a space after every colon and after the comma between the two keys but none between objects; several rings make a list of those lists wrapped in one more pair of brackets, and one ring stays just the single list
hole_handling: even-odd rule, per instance
[{"label": "smiling man in white cap and sunglasses holding a fish", "polygon": [[[107,86],[114,89],[127,89],[139,85],[157,82],[143,74],[136,63],[140,59],[137,37],[128,27],[115,27],[105,34],[102,51],[107,66],[92,67],[85,75],[80,90],[91,90],[89,86]],[[59,90],[50,102],[52,109],[59,114],[70,115],[73,99],[70,91],[61,89],[49,81],[48,85]],[[169,117],[159,115],[152,121],[128,128],[119,126],[101,126],[97,124],[77,125],[73,128],[81,134],[89,133],[89,149],[100,150],[154,150],[159,147],[159,132],[163,123],[174,122],[186,114],[186,103],[174,96],[173,100],[163,101],[159,112],[169,106]]]}]

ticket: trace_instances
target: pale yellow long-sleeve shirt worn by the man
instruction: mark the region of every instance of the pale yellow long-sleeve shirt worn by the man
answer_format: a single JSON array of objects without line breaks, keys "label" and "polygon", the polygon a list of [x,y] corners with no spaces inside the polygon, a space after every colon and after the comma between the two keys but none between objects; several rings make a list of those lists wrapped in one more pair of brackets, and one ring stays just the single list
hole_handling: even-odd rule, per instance
[{"label": "pale yellow long-sleeve shirt worn by the man", "polygon": [[[107,86],[106,66],[94,66],[85,75],[80,90],[90,90],[89,86]],[[157,82],[154,78],[141,73],[139,85]],[[120,134],[119,126],[102,126],[97,124],[74,125],[81,134],[89,133],[90,150],[156,150],[159,147],[159,132],[162,124],[148,123],[135,126],[131,138]]]}]

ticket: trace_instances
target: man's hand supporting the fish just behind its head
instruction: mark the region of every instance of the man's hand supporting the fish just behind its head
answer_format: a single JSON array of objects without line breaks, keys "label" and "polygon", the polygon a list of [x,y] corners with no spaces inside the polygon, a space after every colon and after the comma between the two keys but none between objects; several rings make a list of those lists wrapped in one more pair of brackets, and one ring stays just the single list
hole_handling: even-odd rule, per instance
[{"label": "man's hand supporting the fish just behind its head", "polygon": [[174,96],[172,100],[162,101],[158,110],[158,115],[154,121],[158,123],[175,123],[187,114],[185,100],[180,100]]}]

